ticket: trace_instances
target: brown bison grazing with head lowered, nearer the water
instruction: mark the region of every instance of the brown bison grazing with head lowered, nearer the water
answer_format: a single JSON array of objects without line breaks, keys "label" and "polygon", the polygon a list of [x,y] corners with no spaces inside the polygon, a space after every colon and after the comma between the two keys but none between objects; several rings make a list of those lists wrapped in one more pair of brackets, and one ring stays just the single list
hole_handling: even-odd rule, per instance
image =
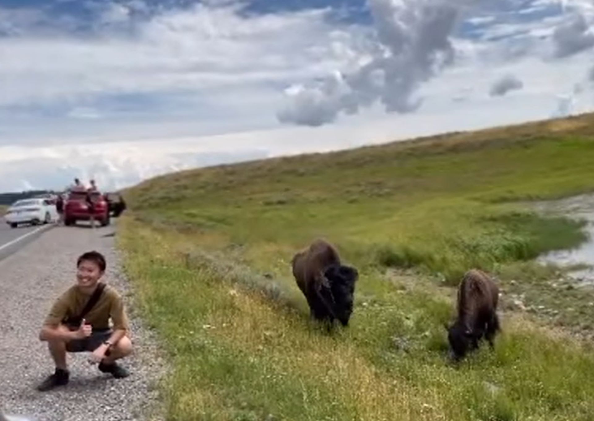
[{"label": "brown bison grazing with head lowered, nearer the water", "polygon": [[448,328],[451,357],[462,359],[478,348],[483,337],[493,348],[493,338],[500,331],[498,299],[499,288],[491,277],[480,270],[467,271],[458,289],[458,316]]}]

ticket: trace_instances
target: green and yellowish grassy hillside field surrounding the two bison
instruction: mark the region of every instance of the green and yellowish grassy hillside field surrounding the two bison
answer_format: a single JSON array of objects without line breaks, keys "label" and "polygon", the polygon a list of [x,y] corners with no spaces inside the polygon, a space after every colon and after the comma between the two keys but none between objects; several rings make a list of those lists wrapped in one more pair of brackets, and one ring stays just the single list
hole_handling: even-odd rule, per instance
[{"label": "green and yellowish grassy hillside field surrounding the two bison", "polygon": [[[555,300],[557,270],[531,262],[580,243],[581,224],[519,204],[594,191],[592,162],[586,115],[129,189],[119,246],[172,362],[168,419],[592,420],[594,352],[569,328],[589,329],[593,292]],[[351,325],[331,335],[290,271],[318,237],[361,273]],[[452,366],[443,324],[472,267],[501,278],[504,332]],[[514,289],[558,316],[507,311]]]}]

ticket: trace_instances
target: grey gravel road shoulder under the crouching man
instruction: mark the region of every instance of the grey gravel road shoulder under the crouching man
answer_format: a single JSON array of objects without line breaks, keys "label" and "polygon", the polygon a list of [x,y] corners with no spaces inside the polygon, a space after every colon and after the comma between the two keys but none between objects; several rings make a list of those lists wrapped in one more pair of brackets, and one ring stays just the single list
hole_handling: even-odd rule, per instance
[{"label": "grey gravel road shoulder under the crouching man", "polygon": [[[134,290],[121,270],[115,227],[56,227],[0,261],[0,408],[36,421],[162,419],[157,384],[166,372],[154,333],[134,309]],[[105,278],[124,297],[131,319],[134,353],[122,360],[131,372],[113,379],[87,363],[87,353],[69,354],[67,387],[38,392],[53,372],[39,330],[53,301],[75,282],[77,257],[97,250],[108,262]]]}]

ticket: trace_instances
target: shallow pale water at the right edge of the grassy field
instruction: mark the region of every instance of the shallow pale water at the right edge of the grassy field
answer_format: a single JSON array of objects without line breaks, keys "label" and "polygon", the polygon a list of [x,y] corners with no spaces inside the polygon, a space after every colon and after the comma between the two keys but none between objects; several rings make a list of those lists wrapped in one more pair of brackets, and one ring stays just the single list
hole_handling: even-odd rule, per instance
[{"label": "shallow pale water at the right edge of the grassy field", "polygon": [[587,265],[588,267],[571,270],[567,274],[579,283],[594,285],[594,194],[537,202],[534,207],[542,213],[587,221],[583,228],[588,235],[585,242],[574,249],[548,252],[536,260],[542,264],[552,263],[560,267]]}]

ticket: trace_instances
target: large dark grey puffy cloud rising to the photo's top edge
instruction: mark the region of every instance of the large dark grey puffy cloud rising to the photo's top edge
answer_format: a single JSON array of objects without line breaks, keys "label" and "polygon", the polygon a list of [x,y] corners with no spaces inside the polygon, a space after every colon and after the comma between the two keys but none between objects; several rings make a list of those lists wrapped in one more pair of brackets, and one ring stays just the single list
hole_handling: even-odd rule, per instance
[{"label": "large dark grey puffy cloud rising to the photo's top edge", "polygon": [[341,112],[353,114],[379,99],[388,112],[412,112],[421,105],[419,86],[451,64],[450,36],[469,0],[369,0],[377,45],[370,59],[308,88],[287,92],[282,122],[317,126]]}]

